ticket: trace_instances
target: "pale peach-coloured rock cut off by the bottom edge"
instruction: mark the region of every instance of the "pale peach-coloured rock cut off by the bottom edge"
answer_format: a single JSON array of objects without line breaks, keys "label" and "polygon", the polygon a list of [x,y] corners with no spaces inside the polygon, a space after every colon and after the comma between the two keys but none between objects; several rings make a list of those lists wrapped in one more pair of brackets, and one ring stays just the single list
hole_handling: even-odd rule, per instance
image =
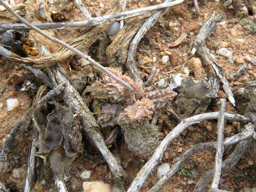
[{"label": "pale peach-coloured rock cut off by the bottom edge", "polygon": [[110,192],[110,185],[102,181],[83,182],[83,192]]}]

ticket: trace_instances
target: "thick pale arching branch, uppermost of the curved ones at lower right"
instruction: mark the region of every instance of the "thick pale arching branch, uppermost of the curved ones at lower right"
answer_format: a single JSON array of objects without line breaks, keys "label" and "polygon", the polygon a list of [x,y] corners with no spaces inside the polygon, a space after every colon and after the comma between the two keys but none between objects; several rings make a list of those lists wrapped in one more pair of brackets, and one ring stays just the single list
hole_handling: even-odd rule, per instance
[{"label": "thick pale arching branch, uppermost of the curved ones at lower right", "polygon": [[[195,116],[191,116],[186,119],[183,119],[177,126],[175,126],[175,128],[169,134],[166,135],[164,140],[156,148],[154,154],[139,171],[139,173],[131,183],[127,192],[136,192],[140,190],[143,183],[148,178],[148,175],[153,171],[154,167],[158,164],[159,160],[163,157],[166,147],[170,144],[170,142],[172,142],[175,138],[177,138],[181,134],[181,132],[184,131],[188,126],[193,125],[195,123],[199,123],[207,119],[216,119],[218,117],[219,117],[219,112],[214,112],[214,113],[199,114],[199,115],[195,115]],[[233,114],[233,113],[225,113],[225,119],[243,121],[245,123],[249,122],[248,118],[242,115]]]}]

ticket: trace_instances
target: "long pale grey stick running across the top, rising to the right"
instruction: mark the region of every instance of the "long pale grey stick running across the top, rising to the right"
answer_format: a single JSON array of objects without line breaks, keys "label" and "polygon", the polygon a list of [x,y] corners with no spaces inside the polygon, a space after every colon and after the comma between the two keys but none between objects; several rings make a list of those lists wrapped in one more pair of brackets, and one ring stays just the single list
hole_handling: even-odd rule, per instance
[{"label": "long pale grey stick running across the top, rising to the right", "polygon": [[[116,19],[116,18],[127,17],[127,16],[131,17],[132,15],[134,15],[134,17],[135,17],[138,14],[141,15],[141,14],[147,13],[149,11],[154,11],[154,10],[170,7],[170,6],[173,6],[173,5],[177,5],[177,4],[179,4],[183,1],[184,0],[176,0],[176,1],[171,2],[171,3],[163,3],[163,4],[159,4],[159,5],[143,7],[143,8],[140,8],[140,9],[115,13],[115,14],[111,14],[111,15],[104,15],[102,17],[90,18],[90,19],[87,19],[85,21],[55,22],[55,23],[31,23],[31,24],[33,24],[35,27],[37,27],[41,30],[44,30],[44,29],[84,28],[84,27],[88,27],[88,26],[97,26],[102,22],[106,22],[106,21]],[[15,24],[2,23],[0,25],[0,33],[1,32],[3,33],[4,31],[10,30],[10,29],[14,29],[14,30],[30,30],[30,29],[33,29],[33,30],[35,30],[35,28],[31,28],[30,26],[28,27],[28,26],[26,26],[22,23],[15,23]]]}]

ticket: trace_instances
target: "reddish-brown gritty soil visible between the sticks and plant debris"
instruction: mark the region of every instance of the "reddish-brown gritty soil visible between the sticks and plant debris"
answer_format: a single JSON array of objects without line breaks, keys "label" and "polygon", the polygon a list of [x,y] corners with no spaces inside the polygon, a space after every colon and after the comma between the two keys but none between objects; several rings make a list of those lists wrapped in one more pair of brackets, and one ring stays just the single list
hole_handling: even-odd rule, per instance
[{"label": "reddish-brown gritty soil visible between the sticks and plant debris", "polygon": [[[14,2],[19,3],[21,1]],[[26,1],[27,9],[37,10],[40,2],[43,1]],[[47,3],[47,0],[45,2]],[[53,2],[56,3],[58,1]],[[58,14],[52,13],[51,15],[51,19],[53,21],[71,22],[82,21],[85,19],[79,9],[71,1],[59,2],[60,3],[55,4]],[[86,9],[92,14],[92,17],[99,17],[103,15],[113,4],[113,1],[108,0],[88,0],[82,2],[85,4]],[[155,85],[160,79],[167,79],[171,74],[179,73],[181,66],[190,59],[189,53],[191,41],[196,38],[202,23],[215,12],[221,14],[223,16],[223,20],[221,25],[218,25],[214,33],[207,38],[206,46],[213,51],[213,53],[221,47],[226,47],[229,51],[233,52],[231,59],[214,54],[226,77],[234,73],[244,63],[248,63],[249,67],[245,73],[235,81],[229,82],[230,87],[253,81],[256,76],[256,67],[246,60],[246,55],[250,55],[252,58],[256,57],[256,35],[250,34],[245,27],[239,24],[239,21],[242,18],[256,20],[256,11],[251,8],[253,7],[252,4],[255,7],[256,3],[251,1],[251,5],[249,3],[248,6],[246,2],[250,1],[235,1],[235,3],[228,7],[224,7],[222,2],[210,0],[200,1],[199,8],[201,12],[199,14],[195,12],[192,0],[185,1],[182,4],[172,7],[142,38],[137,49],[135,58],[138,61],[138,68],[143,80],[147,80],[153,66],[159,69],[159,72],[153,80],[153,84]],[[161,0],[127,0],[126,8],[127,10],[138,9],[140,7],[154,5],[157,3],[161,3]],[[65,8],[67,6],[71,6],[71,11],[70,9]],[[246,10],[243,10],[244,6],[248,7],[247,12]],[[33,15],[34,12],[31,12],[31,14]],[[53,36],[61,38],[65,42],[79,34],[79,30],[73,29],[62,31],[49,30],[48,32]],[[183,33],[187,34],[184,41],[178,46],[171,47],[170,45]],[[30,35],[35,39],[37,44],[44,44],[51,53],[54,53],[60,47],[50,41],[45,41],[42,36],[37,35],[34,31],[31,31]],[[95,47],[97,46],[93,45],[93,49],[95,49]],[[92,58],[94,57],[92,50],[84,51],[91,54]],[[162,64],[163,55],[169,55],[170,58],[170,62],[166,65]],[[156,57],[155,62],[153,61],[153,57]],[[195,56],[195,58],[198,57]],[[94,59],[97,60],[97,58]],[[197,80],[207,76],[207,73],[209,73],[209,68],[205,66],[204,63],[199,67],[195,67],[193,65],[188,67],[190,75],[194,76]],[[76,68],[76,66],[70,70],[75,70],[74,68]],[[72,73],[70,71],[68,72]],[[20,91],[22,83],[27,79],[35,83],[37,87],[42,84],[40,83],[41,81],[35,78],[29,71],[26,71],[19,65],[2,58],[0,64],[0,146],[3,145],[5,135],[10,132],[12,126],[17,123],[18,119],[23,113],[25,113],[33,102],[35,93]],[[19,107],[12,111],[7,111],[6,100],[10,98],[18,98]],[[217,102],[220,98],[227,98],[222,87],[220,87],[218,92],[218,98],[211,101],[207,108],[207,112],[218,111]],[[229,102],[227,103],[226,111],[238,113],[236,108]],[[175,125],[177,125],[177,122],[174,118],[170,118],[169,112],[166,111],[163,116],[158,119],[158,125],[162,126],[162,132],[166,135],[175,127]],[[225,137],[229,137],[230,135],[234,135],[238,132],[237,122],[227,122],[226,125]],[[183,152],[196,143],[216,141],[216,126],[217,121],[207,121],[199,125],[190,126],[178,139],[174,140],[172,144],[167,147],[161,163],[169,163],[170,166],[172,166]],[[24,186],[29,147],[33,135],[34,131],[32,126],[27,130],[21,130],[17,137],[15,137],[13,146],[7,156],[7,161],[4,164],[0,180],[6,187],[11,188],[11,191],[22,191]],[[84,170],[90,170],[92,172],[89,181],[103,180],[106,183],[111,182],[110,171],[102,156],[90,146],[89,142],[85,138],[83,139],[83,144],[84,153],[78,155],[71,165],[71,178],[66,182],[68,191],[83,191],[83,181],[79,178],[79,174]],[[128,175],[128,178],[125,181],[125,187],[127,188],[146,162],[133,155],[127,149],[127,146],[123,144],[122,137],[118,137],[110,150],[117,159],[119,159]],[[233,148],[226,150],[224,157],[226,158],[232,150]],[[195,184],[202,175],[214,166],[214,155],[215,154],[210,151],[201,151],[200,153],[195,154],[185,164],[183,169],[178,174],[175,174],[174,177],[163,186],[161,191],[193,191]],[[40,158],[37,160],[37,181],[33,191],[57,191],[54,186],[54,178],[50,166],[47,164],[43,165]],[[252,159],[246,152],[234,169],[222,175],[220,188],[229,191],[240,191],[245,187],[256,187],[256,166],[251,162]],[[19,178],[14,178],[13,169],[20,167],[22,167],[22,169]],[[46,181],[45,185],[41,184],[42,180]],[[157,180],[158,178],[155,170],[147,179],[141,191],[144,192],[150,189]]]}]

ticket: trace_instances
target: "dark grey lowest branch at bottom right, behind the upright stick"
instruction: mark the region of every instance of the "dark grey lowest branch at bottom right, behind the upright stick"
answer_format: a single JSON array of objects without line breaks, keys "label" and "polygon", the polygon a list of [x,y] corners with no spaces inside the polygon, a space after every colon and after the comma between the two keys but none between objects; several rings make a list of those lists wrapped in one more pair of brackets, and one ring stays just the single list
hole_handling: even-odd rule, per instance
[{"label": "dark grey lowest branch at bottom right, behind the upright stick", "polygon": [[[231,155],[229,155],[228,158],[223,162],[221,171],[224,173],[229,171],[232,167],[234,167],[239,161],[239,159],[243,156],[247,148],[248,148],[248,140],[240,141],[237,144],[233,153],[231,153]],[[214,174],[213,169],[210,171],[207,171],[203,175],[203,177],[199,180],[199,182],[196,184],[194,192],[203,191],[207,187],[209,182],[212,180],[213,174]]]}]

